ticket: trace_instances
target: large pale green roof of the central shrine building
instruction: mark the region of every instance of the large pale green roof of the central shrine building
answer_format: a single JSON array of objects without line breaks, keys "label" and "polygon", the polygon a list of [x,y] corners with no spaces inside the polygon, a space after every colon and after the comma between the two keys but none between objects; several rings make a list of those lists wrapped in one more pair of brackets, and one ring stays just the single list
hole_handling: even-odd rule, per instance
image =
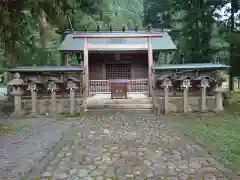
[{"label": "large pale green roof of the central shrine building", "polygon": [[[130,51],[148,50],[148,37],[152,39],[153,50],[176,50],[177,47],[167,32],[126,31],[126,32],[73,32],[60,44],[59,51],[82,51],[84,38],[93,45],[89,50]],[[145,44],[145,46],[143,46]]]}]

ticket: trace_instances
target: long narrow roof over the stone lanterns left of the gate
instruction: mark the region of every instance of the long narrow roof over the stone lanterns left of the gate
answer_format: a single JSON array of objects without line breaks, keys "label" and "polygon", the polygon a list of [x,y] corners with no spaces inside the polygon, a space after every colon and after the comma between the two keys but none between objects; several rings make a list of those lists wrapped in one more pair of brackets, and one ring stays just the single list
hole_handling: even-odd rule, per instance
[{"label": "long narrow roof over the stone lanterns left of the gate", "polygon": [[78,72],[83,71],[79,66],[26,66],[8,69],[8,72]]}]

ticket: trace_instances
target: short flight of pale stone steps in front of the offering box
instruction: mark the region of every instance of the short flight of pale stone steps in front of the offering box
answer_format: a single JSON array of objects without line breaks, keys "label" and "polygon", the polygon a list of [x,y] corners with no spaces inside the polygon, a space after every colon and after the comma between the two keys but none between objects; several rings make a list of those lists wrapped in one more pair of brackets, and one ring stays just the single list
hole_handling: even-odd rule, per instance
[{"label": "short flight of pale stone steps in front of the offering box", "polygon": [[152,113],[152,101],[149,98],[136,99],[88,99],[87,111],[115,111]]}]

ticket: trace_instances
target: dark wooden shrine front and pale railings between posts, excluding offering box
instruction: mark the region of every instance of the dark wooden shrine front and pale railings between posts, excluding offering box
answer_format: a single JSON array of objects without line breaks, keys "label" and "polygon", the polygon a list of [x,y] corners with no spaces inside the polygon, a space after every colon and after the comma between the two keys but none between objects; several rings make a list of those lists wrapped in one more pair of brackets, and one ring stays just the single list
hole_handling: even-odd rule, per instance
[{"label": "dark wooden shrine front and pale railings between posts, excluding offering box", "polygon": [[127,98],[148,98],[148,52],[89,52],[89,96],[111,98],[111,80],[127,80]]}]

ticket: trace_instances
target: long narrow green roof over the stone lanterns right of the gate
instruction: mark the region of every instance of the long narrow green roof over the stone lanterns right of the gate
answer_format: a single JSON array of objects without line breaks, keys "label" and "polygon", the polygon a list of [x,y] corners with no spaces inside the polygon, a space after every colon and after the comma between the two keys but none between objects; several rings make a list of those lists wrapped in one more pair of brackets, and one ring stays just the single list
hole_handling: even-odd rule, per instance
[{"label": "long narrow green roof over the stone lanterns right of the gate", "polygon": [[194,63],[194,64],[165,64],[153,67],[154,70],[178,70],[178,69],[227,69],[230,66],[214,63]]}]

